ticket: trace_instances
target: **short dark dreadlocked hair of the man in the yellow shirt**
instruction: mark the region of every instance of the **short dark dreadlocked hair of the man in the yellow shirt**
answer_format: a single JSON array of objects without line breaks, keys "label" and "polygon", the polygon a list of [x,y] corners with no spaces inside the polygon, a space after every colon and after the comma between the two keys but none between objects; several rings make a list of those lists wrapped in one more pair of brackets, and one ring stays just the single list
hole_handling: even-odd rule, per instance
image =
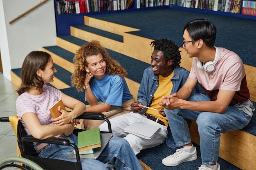
[{"label": "short dark dreadlocked hair of the man in the yellow shirt", "polygon": [[151,42],[150,45],[154,47],[154,50],[163,51],[166,62],[168,60],[172,60],[173,65],[175,67],[180,66],[180,59],[181,59],[180,47],[177,46],[174,42],[164,38],[164,39],[154,40]]}]

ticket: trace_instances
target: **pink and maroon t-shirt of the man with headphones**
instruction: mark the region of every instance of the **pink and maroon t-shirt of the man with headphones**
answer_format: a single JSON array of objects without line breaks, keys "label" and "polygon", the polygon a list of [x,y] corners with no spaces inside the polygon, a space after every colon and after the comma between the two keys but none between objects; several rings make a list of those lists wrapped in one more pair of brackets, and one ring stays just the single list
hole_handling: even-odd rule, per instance
[{"label": "pink and maroon t-shirt of the man with headphones", "polygon": [[219,90],[236,91],[229,106],[242,104],[250,98],[247,87],[245,68],[240,57],[233,51],[216,47],[220,55],[213,72],[197,67],[198,58],[193,58],[189,77],[197,79],[204,92],[211,100],[216,100]]}]

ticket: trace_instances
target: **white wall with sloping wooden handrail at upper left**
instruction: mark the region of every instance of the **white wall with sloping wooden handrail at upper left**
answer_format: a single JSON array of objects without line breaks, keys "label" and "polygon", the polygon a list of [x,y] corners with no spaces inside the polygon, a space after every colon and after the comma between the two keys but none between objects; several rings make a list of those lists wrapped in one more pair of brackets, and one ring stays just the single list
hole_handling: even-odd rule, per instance
[{"label": "white wall with sloping wooden handrail at upper left", "polygon": [[21,68],[30,51],[56,45],[54,0],[48,0],[9,24],[38,3],[39,0],[0,0],[0,52],[3,75],[9,80],[11,69]]}]

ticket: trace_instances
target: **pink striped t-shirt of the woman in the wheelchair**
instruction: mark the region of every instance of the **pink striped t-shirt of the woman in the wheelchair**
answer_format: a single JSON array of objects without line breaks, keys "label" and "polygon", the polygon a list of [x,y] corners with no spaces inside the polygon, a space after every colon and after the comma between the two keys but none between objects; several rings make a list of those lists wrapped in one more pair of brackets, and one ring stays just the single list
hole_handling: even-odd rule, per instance
[{"label": "pink striped t-shirt of the woman in the wheelchair", "polygon": [[30,95],[25,92],[22,93],[16,100],[16,110],[18,119],[21,120],[22,125],[28,135],[31,135],[27,126],[22,121],[22,116],[25,113],[33,112],[37,115],[42,125],[54,125],[52,123],[52,115],[49,111],[58,100],[62,97],[61,91],[51,86],[44,85],[43,93],[40,95]]}]

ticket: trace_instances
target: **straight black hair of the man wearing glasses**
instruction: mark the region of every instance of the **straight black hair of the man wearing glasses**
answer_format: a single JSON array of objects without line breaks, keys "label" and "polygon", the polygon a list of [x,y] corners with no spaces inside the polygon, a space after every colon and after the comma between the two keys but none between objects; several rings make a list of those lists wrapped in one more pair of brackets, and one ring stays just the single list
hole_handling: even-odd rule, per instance
[{"label": "straight black hair of the man wearing glasses", "polygon": [[205,18],[192,20],[184,26],[183,32],[185,30],[189,32],[192,40],[201,39],[207,46],[214,46],[217,31],[215,25],[209,20]]}]

